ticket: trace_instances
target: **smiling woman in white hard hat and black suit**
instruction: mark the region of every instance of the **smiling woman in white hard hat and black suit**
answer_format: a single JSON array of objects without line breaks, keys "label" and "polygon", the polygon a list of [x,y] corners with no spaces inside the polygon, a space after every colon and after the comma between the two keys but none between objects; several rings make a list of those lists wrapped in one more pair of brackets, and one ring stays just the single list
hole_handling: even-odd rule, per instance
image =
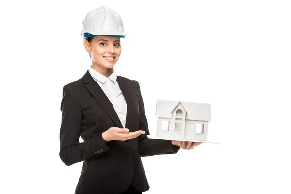
[{"label": "smiling woman in white hard hat and black suit", "polygon": [[60,157],[68,166],[83,161],[75,194],[141,194],[149,189],[142,156],[174,154],[198,143],[147,138],[139,83],[113,68],[126,35],[116,12],[92,10],[82,32],[92,65],[63,88]]}]

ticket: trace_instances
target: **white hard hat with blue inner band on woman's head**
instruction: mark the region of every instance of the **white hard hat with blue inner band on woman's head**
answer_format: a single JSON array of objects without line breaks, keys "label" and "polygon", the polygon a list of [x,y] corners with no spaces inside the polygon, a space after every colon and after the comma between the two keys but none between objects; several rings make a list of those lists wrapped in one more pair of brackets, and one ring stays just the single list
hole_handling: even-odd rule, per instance
[{"label": "white hard hat with blue inner band on woman's head", "polygon": [[112,9],[101,6],[90,11],[84,21],[82,35],[91,36],[119,36],[124,38],[123,22],[119,14]]}]

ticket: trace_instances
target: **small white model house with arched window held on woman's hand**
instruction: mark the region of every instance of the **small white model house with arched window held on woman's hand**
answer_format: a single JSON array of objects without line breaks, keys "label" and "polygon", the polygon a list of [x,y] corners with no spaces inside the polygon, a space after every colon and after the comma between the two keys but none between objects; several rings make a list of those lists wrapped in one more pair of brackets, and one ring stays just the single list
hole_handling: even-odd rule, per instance
[{"label": "small white model house with arched window held on woman's hand", "polygon": [[210,104],[157,100],[156,117],[160,139],[207,142]]}]

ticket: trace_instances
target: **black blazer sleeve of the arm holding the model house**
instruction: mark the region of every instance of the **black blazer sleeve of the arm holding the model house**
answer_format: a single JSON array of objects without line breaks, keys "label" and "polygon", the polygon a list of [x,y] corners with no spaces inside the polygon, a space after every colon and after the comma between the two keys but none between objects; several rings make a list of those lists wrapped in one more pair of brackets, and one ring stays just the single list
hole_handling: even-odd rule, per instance
[{"label": "black blazer sleeve of the arm holding the model house", "polygon": [[139,94],[139,112],[140,112],[140,123],[139,129],[146,131],[146,134],[142,134],[138,137],[139,151],[142,157],[154,156],[160,154],[175,154],[180,149],[179,146],[173,146],[171,140],[162,139],[149,139],[148,124],[146,119],[145,107],[141,89],[139,83],[136,81]]}]

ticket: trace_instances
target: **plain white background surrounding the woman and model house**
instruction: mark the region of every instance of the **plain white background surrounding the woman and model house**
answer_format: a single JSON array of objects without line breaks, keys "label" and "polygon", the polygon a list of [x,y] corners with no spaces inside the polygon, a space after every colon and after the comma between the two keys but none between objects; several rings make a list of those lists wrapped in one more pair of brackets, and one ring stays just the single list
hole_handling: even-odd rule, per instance
[{"label": "plain white background surrounding the woman and model house", "polygon": [[290,194],[288,0],[1,1],[0,193],[74,193],[82,162],[59,158],[62,88],[91,65],[82,20],[102,5],[129,32],[115,69],[139,81],[151,136],[157,99],[210,103],[219,134],[143,158],[145,193]]}]

